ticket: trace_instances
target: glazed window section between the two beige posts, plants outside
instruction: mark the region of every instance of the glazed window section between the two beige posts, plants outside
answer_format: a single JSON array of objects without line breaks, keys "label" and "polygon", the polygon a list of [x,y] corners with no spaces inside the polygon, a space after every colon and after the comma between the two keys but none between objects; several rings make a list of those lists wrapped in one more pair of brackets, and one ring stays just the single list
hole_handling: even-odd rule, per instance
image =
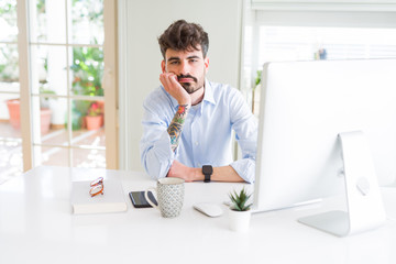
[{"label": "glazed window section between the two beige posts, plants outside", "polygon": [[106,167],[103,2],[29,3],[32,107],[53,125],[33,118],[33,166]]}]

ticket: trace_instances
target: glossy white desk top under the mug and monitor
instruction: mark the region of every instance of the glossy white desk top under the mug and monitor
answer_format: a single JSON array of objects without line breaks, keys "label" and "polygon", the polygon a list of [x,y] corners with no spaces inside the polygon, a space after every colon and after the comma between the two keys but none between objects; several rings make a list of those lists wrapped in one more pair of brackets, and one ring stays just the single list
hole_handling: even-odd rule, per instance
[{"label": "glossy white desk top under the mug and monitor", "polygon": [[[128,211],[72,215],[70,180],[98,176],[122,179]],[[132,207],[128,193],[151,186],[155,182],[140,173],[62,167],[37,167],[7,182],[0,186],[0,263],[396,263],[393,220],[343,239],[296,221],[337,207],[327,201],[253,215],[249,233],[240,234],[228,229],[227,215],[208,218],[191,206],[221,204],[241,184],[186,184],[185,205],[175,219]],[[396,217],[396,191],[383,193]]]}]

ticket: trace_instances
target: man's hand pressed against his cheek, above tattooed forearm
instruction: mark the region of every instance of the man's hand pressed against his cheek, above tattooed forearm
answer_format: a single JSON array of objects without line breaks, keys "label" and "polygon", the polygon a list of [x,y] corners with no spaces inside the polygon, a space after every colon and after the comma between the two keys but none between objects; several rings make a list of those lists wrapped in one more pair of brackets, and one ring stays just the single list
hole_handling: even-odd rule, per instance
[{"label": "man's hand pressed against his cheek, above tattooed forearm", "polygon": [[165,90],[177,100],[178,105],[191,105],[191,97],[177,81],[177,76],[173,73],[164,73],[160,75],[161,84]]}]

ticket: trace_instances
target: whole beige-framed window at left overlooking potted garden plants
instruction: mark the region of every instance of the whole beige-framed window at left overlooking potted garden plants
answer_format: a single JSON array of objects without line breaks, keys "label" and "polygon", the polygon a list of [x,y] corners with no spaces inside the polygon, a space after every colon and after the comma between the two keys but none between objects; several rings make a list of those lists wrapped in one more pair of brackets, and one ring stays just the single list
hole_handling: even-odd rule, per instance
[{"label": "whole beige-framed window at left overlooking potted garden plants", "polygon": [[[0,36],[0,152],[7,153],[0,173],[38,165],[109,167],[109,145],[110,168],[117,166],[116,100],[108,99],[116,98],[117,86],[107,74],[116,61],[114,7],[109,0],[0,1],[7,29]],[[10,98],[19,116],[7,108]],[[106,129],[105,116],[111,117]]]}]

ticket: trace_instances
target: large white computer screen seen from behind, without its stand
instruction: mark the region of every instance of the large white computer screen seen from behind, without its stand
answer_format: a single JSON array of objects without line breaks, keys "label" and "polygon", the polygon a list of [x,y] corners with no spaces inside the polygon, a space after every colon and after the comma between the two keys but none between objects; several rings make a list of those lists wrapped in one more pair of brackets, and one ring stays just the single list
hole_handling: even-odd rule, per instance
[{"label": "large white computer screen seen from behind, without its stand", "polygon": [[395,180],[396,59],[266,63],[258,118],[255,211],[344,191],[344,132],[364,135],[374,180]]}]

